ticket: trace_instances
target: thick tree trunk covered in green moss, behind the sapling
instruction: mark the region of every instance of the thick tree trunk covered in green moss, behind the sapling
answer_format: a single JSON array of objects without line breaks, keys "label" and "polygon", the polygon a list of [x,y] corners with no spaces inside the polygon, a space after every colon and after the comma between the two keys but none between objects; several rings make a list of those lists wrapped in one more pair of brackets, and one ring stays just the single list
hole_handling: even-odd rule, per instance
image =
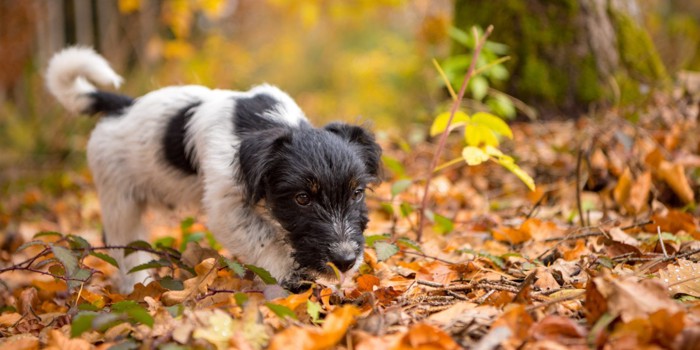
[{"label": "thick tree trunk covered in green moss, behind the sapling", "polygon": [[510,47],[509,93],[559,111],[630,103],[668,75],[636,0],[456,0],[455,25],[495,27]]}]

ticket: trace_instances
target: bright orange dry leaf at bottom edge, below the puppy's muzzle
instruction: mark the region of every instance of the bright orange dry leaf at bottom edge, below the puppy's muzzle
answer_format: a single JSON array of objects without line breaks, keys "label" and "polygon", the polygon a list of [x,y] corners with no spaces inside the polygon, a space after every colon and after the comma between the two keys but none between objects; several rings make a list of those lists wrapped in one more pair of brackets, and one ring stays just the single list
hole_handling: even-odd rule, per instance
[{"label": "bright orange dry leaf at bottom edge, below the puppy's muzzle", "polygon": [[360,310],[356,307],[344,305],[328,315],[321,328],[295,326],[283,330],[272,338],[269,349],[327,349],[343,338],[359,314]]}]

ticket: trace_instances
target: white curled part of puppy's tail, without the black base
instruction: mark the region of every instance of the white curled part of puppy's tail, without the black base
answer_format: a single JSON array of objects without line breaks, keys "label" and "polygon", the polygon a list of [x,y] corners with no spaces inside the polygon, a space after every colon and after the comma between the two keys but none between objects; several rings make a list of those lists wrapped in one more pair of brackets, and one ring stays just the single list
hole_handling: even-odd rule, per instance
[{"label": "white curled part of puppy's tail, without the black base", "polygon": [[46,86],[67,110],[86,113],[97,91],[93,84],[119,88],[122,77],[107,60],[88,47],[69,47],[55,54],[46,70]]}]

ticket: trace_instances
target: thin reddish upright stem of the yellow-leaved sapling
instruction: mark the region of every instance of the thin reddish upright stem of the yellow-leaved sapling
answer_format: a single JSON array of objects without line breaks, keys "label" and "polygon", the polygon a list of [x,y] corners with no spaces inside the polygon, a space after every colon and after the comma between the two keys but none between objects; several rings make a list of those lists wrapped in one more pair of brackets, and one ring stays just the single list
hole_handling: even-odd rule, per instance
[{"label": "thin reddish upright stem of the yellow-leaved sapling", "polygon": [[[474,37],[477,38],[478,32],[476,31],[476,28],[473,29],[474,31]],[[440,136],[440,141],[438,143],[438,147],[435,149],[435,155],[433,156],[432,161],[430,162],[430,169],[428,170],[428,175],[427,178],[425,179],[425,188],[423,189],[423,200],[421,201],[421,206],[420,206],[420,211],[418,215],[418,232],[416,233],[416,241],[420,243],[422,237],[423,237],[423,226],[425,224],[425,209],[428,206],[428,194],[430,192],[430,182],[433,178],[433,173],[435,170],[435,167],[437,166],[438,162],[440,161],[440,154],[442,153],[442,150],[445,148],[445,143],[447,142],[447,135],[450,132],[450,124],[452,124],[452,120],[454,119],[455,113],[457,113],[457,110],[459,109],[459,106],[462,104],[462,99],[464,99],[464,93],[467,90],[467,85],[469,84],[469,81],[471,80],[472,74],[474,73],[474,68],[476,67],[476,61],[477,58],[479,57],[479,53],[481,52],[482,47],[484,46],[484,43],[486,43],[486,38],[491,35],[491,32],[493,31],[493,26],[489,26],[486,29],[486,32],[484,35],[477,41],[477,45],[474,48],[474,53],[472,54],[472,60],[469,63],[469,69],[467,70],[467,74],[464,76],[464,82],[462,83],[462,87],[459,89],[459,94],[457,95],[457,99],[454,100],[452,103],[452,109],[450,110],[450,118],[447,120],[447,127],[445,128],[445,131],[442,132],[442,135]]]}]

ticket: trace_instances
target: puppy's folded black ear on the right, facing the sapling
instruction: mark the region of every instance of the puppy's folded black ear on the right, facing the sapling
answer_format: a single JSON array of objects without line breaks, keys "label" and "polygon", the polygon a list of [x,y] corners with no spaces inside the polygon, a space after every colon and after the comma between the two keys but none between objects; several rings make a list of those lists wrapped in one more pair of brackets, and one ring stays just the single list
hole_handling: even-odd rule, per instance
[{"label": "puppy's folded black ear on the right, facing the sapling", "polygon": [[374,140],[374,135],[366,129],[346,123],[330,123],[325,129],[342,137],[351,144],[355,144],[359,149],[360,156],[367,171],[377,181],[379,180],[379,170],[381,164],[382,148]]}]

